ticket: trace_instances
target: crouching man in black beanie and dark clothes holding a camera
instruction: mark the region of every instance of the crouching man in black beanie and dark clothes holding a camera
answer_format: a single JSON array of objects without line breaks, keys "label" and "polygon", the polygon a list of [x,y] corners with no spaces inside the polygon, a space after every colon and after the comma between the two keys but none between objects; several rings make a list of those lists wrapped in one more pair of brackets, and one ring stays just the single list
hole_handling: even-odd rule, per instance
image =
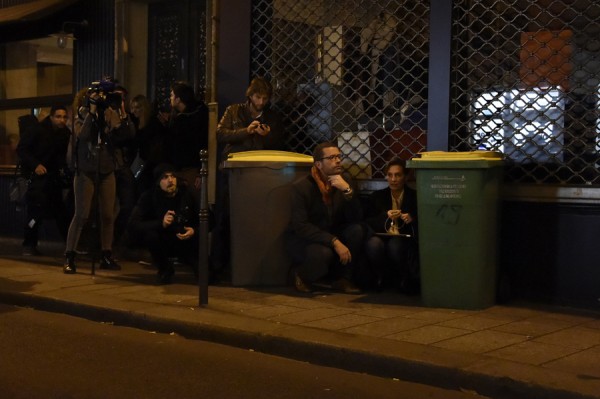
[{"label": "crouching man in black beanie and dark clothes holding a camera", "polygon": [[158,266],[158,283],[170,284],[175,270],[169,258],[190,265],[198,277],[198,205],[192,191],[180,183],[175,167],[159,164],[156,184],[140,197],[129,219],[129,232],[142,243]]}]

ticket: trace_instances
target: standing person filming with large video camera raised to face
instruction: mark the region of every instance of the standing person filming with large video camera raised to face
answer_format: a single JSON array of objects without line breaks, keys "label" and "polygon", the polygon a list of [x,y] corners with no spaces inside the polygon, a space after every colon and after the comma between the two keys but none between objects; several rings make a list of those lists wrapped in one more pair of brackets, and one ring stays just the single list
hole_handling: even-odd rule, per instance
[{"label": "standing person filming with large video camera raised to face", "polygon": [[[102,81],[93,84],[84,98],[76,99],[74,111],[76,136],[75,163],[75,214],[69,226],[66,261],[63,272],[77,272],[75,249],[81,232],[87,223],[92,207],[98,211],[100,227],[100,269],[120,270],[112,258],[115,208],[115,144],[133,138],[132,128],[126,113],[120,113],[113,101],[117,95],[114,83]],[[79,107],[82,100],[84,105]]]}]

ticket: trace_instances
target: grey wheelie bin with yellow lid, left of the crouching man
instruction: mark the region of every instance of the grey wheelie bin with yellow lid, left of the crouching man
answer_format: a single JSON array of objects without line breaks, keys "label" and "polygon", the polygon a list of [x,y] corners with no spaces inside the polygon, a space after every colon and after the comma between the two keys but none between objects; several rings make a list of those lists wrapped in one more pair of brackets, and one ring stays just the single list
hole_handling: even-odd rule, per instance
[{"label": "grey wheelie bin with yellow lid, left of the crouching man", "polygon": [[309,155],[267,150],[232,153],[224,162],[234,286],[287,283],[290,259],[284,232],[291,216],[290,183],[312,164]]}]

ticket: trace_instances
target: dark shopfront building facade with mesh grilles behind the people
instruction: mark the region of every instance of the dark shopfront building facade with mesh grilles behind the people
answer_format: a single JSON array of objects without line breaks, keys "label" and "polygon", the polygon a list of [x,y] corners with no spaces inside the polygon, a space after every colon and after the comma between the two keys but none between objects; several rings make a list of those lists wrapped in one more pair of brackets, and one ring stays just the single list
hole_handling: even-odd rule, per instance
[{"label": "dark shopfront building facade with mesh grilles behind the people", "polygon": [[[39,7],[27,11],[27,4]],[[243,101],[249,79],[260,75],[274,84],[273,107],[286,117],[289,149],[308,153],[317,142],[337,141],[365,191],[383,184],[383,167],[394,155],[502,152],[500,266],[512,295],[597,306],[596,1],[47,0],[0,6],[3,191],[16,162],[16,117],[67,100],[103,75],[156,103],[166,101],[170,82],[189,81],[211,105],[213,132],[224,107]],[[71,62],[48,42],[61,32]],[[70,82],[61,79],[69,74]],[[15,83],[34,75],[36,87]],[[216,151],[213,134],[213,169]],[[14,220],[4,202],[2,212]],[[4,229],[13,234],[20,225]]]}]

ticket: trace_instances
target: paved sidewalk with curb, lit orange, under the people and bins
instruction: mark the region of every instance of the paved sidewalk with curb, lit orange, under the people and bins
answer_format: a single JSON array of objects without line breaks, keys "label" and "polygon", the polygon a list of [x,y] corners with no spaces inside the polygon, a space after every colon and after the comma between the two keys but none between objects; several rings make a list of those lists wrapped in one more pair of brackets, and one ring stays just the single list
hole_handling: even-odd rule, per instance
[{"label": "paved sidewalk with curb, lit orange, under the people and bins", "polygon": [[95,276],[80,261],[65,275],[61,248],[40,249],[47,256],[22,257],[17,240],[0,239],[0,302],[494,398],[600,398],[600,312],[527,303],[466,311],[394,292],[231,286],[209,287],[199,307],[183,266],[168,286],[128,261]]}]

